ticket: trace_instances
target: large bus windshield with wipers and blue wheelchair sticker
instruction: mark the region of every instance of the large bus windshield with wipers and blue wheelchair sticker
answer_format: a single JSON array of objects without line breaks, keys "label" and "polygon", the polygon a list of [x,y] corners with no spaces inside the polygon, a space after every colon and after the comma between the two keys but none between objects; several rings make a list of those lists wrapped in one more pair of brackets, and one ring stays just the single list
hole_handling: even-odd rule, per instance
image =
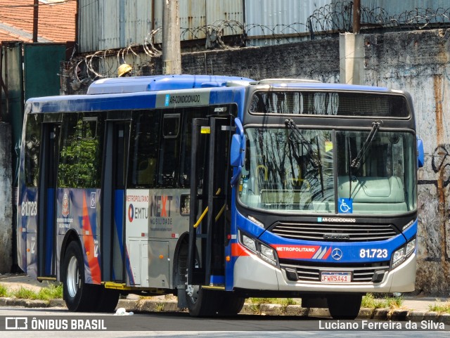
[{"label": "large bus windshield with wipers and blue wheelchair sticker", "polygon": [[261,127],[245,133],[239,200],[247,207],[317,214],[416,209],[416,142],[409,132]]}]

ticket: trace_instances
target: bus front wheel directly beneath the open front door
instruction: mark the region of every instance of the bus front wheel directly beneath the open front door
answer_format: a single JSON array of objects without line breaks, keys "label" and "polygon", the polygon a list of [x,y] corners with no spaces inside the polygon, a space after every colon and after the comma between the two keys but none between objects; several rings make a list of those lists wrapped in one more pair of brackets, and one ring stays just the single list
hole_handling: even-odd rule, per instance
[{"label": "bus front wheel directly beneath the open front door", "polygon": [[206,290],[201,285],[188,285],[186,299],[189,314],[193,317],[216,316],[222,302],[221,292]]}]

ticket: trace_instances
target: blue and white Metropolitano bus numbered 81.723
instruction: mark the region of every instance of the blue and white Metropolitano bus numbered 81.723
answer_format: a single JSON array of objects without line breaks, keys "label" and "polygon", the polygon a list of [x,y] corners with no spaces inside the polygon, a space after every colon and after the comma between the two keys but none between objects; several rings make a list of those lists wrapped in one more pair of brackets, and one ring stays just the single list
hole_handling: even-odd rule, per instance
[{"label": "blue and white Metropolitano bus numbered 81.723", "polygon": [[299,297],[354,318],[411,292],[411,97],[296,79],[101,79],[25,105],[18,262],[70,311],[175,294],[192,316]]}]

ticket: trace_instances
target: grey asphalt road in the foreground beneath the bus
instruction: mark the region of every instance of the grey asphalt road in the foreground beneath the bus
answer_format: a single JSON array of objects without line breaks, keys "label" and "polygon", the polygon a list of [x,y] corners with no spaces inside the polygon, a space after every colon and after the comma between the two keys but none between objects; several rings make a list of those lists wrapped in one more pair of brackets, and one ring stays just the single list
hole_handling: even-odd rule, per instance
[{"label": "grey asphalt road in the foreground beneath the bus", "polygon": [[[27,330],[16,330],[25,327]],[[11,330],[5,330],[6,325]],[[347,325],[347,329],[342,326]],[[383,328],[383,325],[389,325]],[[399,326],[400,325],[400,326]],[[428,323],[238,315],[192,318],[187,313],[136,313],[114,316],[70,313],[62,308],[0,307],[1,337],[449,337],[450,327]],[[413,325],[413,323],[409,323]],[[54,330],[54,328],[63,330]],[[373,328],[375,327],[375,328]],[[77,328],[77,330],[71,330]],[[41,330],[39,330],[41,329]],[[81,330],[80,330],[81,329]],[[98,329],[98,330],[96,330]],[[362,330],[361,330],[362,329]]]}]

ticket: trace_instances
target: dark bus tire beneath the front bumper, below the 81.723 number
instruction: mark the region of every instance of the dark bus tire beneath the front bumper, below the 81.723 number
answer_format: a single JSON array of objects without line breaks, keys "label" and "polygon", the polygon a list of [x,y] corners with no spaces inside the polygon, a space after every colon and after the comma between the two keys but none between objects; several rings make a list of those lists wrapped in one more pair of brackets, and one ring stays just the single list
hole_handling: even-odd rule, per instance
[{"label": "dark bus tire beneath the front bumper, below the 81.723 number", "polygon": [[355,319],[361,308],[362,294],[329,294],[328,310],[333,319]]}]

